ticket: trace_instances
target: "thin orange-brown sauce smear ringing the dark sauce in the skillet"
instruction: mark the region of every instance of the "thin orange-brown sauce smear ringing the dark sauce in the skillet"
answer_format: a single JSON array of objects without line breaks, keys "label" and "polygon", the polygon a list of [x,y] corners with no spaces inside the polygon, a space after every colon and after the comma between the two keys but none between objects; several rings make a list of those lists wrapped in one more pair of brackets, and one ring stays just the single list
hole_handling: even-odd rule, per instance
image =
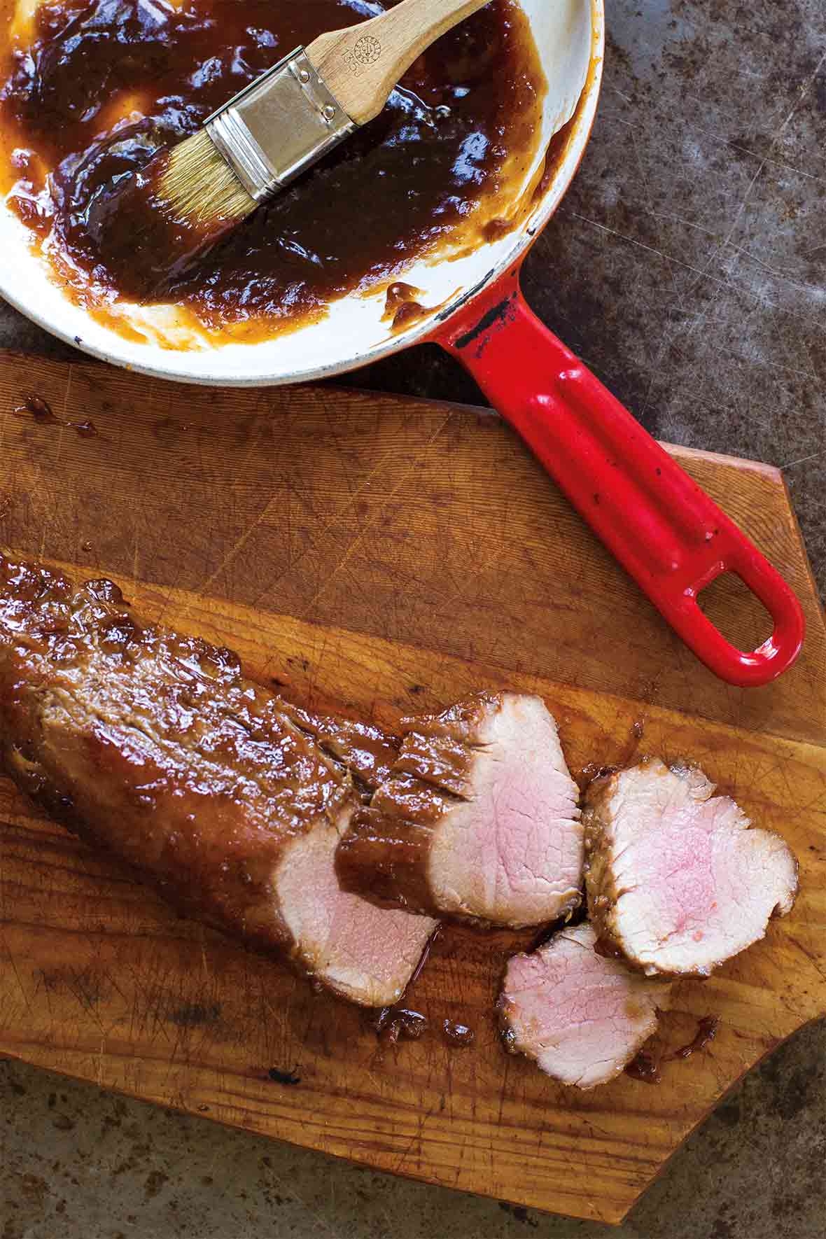
[{"label": "thin orange-brown sauce smear ringing the dark sauce in the skillet", "polygon": [[[4,0],[0,0],[0,11],[2,2]],[[128,2],[128,0],[123,0],[123,2]],[[196,5],[206,4],[208,6],[209,2],[211,0],[194,0]],[[5,0],[5,4],[9,6],[10,0]],[[53,6],[52,11],[56,11],[56,7]],[[90,278],[89,273],[80,270],[76,261],[62,253],[59,247],[51,245],[50,261],[57,279],[66,285],[67,295],[98,322],[114,328],[123,337],[135,342],[145,342],[147,335],[150,335],[155,337],[156,343],[162,347],[166,344],[171,348],[181,347],[182,336],[191,337],[187,347],[211,347],[234,342],[255,343],[260,339],[272,338],[276,335],[287,333],[308,326],[312,322],[321,321],[328,312],[329,302],[338,300],[339,296],[346,296],[350,292],[369,296],[376,290],[376,284],[379,285],[379,290],[381,285],[386,289],[388,276],[390,276],[391,282],[400,280],[404,271],[412,265],[412,260],[442,261],[446,258],[462,256],[477,249],[483,240],[490,239],[489,229],[492,227],[500,234],[515,230],[524,222],[526,211],[533,206],[530,193],[525,192],[521,197],[516,196],[518,191],[523,190],[526,183],[528,170],[539,164],[537,176],[530,178],[533,185],[529,186],[529,190],[531,192],[535,188],[536,180],[542,175],[542,161],[537,159],[536,140],[536,133],[541,130],[541,126],[536,121],[541,114],[547,83],[541,71],[530,25],[521,10],[514,6],[513,0],[498,0],[498,6],[488,12],[497,14],[497,20],[504,14],[508,19],[509,28],[516,31],[515,35],[509,37],[511,37],[511,41],[515,40],[514,46],[521,50],[520,56],[523,58],[519,61],[518,69],[526,74],[525,81],[530,78],[531,89],[528,92],[528,95],[533,92],[533,102],[529,98],[529,105],[523,109],[523,114],[516,115],[516,119],[509,121],[509,126],[502,130],[506,140],[504,141],[499,162],[493,167],[495,175],[488,177],[489,183],[485,183],[483,192],[473,202],[473,209],[467,213],[467,218],[453,221],[450,228],[443,229],[440,235],[420,239],[414,249],[402,255],[402,260],[393,269],[385,266],[384,270],[379,271],[372,270],[368,275],[362,275],[354,286],[336,290],[323,300],[323,304],[306,305],[300,307],[300,311],[293,315],[286,315],[280,318],[267,317],[267,315],[259,317],[250,315],[230,321],[222,320],[219,315],[213,315],[211,318],[209,315],[204,315],[194,305],[192,299],[187,300],[186,296],[176,297],[173,307],[161,304],[144,309],[118,302],[111,290],[105,286],[105,282],[95,281],[94,278]],[[477,21],[479,16],[477,15],[472,21]],[[490,17],[490,20],[493,19]],[[338,24],[341,25],[341,22]],[[530,68],[530,73],[528,73],[526,66]],[[256,72],[259,71],[260,67],[256,67]],[[140,89],[133,92],[133,94],[128,94],[125,98],[130,105],[135,104],[133,109],[134,114],[137,114],[140,105],[145,104]],[[102,112],[102,118],[105,119],[104,112]],[[109,119],[115,114],[114,112],[110,114],[105,113],[105,115],[109,115]],[[124,124],[125,121],[121,120],[121,125]],[[11,142],[9,139],[12,136],[7,124],[5,124],[5,133],[0,131],[0,139],[5,139],[5,145],[10,146]],[[20,149],[17,150],[20,154]],[[37,172],[38,169],[40,172]],[[16,175],[17,181],[20,181],[31,173],[36,181],[37,175],[42,177],[43,169],[45,161],[40,152],[35,151],[27,166],[22,169],[6,167],[2,170],[6,173],[7,182],[5,188],[9,188],[9,181],[12,175]],[[515,209],[514,202],[516,203]],[[30,227],[37,225],[37,221],[28,219],[27,222]],[[43,227],[41,227],[41,237],[43,230]],[[399,307],[398,321],[393,325],[394,332],[405,330],[414,322],[436,313],[441,309],[441,306],[428,307],[421,304],[419,304],[417,309],[412,301],[406,302],[406,305],[409,309],[405,306]],[[198,337],[202,342],[199,346],[194,344],[194,339]]]}]

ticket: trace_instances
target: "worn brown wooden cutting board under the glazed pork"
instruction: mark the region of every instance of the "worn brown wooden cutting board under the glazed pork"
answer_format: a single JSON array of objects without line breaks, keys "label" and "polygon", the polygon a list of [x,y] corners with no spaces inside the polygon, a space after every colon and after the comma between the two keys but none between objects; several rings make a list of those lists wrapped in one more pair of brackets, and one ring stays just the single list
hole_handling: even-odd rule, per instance
[{"label": "worn brown wooden cutting board under the glazed pork", "polygon": [[[58,420],[17,409],[35,394]],[[82,424],[93,422],[93,430]],[[76,425],[66,425],[74,422]],[[525,935],[446,929],[419,1042],[176,919],[0,783],[0,1051],[430,1182],[617,1222],[762,1054],[826,1011],[826,628],[780,475],[672,449],[785,572],[799,665],[741,691],[680,646],[511,432],[477,409],[336,388],[214,392],[0,358],[0,543],[119,581],[301,701],[393,726],[471,689],[542,694],[577,777],[691,757],[801,865],[794,913],[664,1036],[650,1087],[565,1089],[508,1057],[493,1001]],[[743,592],[708,610],[760,636]],[[476,1031],[452,1048],[442,1021]]]}]

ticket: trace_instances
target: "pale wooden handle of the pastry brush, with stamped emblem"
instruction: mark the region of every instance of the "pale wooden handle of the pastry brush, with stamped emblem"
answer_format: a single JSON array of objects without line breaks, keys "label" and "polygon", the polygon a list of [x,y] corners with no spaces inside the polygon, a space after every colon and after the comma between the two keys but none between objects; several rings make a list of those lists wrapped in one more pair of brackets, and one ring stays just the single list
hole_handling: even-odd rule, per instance
[{"label": "pale wooden handle of the pastry brush, with stamped emblem", "polygon": [[379,17],[320,35],[307,56],[359,125],[384,108],[399,78],[440,35],[489,0],[401,0]]}]

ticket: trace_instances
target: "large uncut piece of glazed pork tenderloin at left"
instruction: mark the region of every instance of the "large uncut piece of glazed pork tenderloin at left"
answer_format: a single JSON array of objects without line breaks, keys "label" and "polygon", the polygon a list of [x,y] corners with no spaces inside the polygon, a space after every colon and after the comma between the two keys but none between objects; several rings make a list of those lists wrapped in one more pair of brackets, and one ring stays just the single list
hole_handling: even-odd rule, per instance
[{"label": "large uncut piece of glazed pork tenderloin at left", "polygon": [[339,891],[349,774],[238,659],[142,627],[109,581],[0,556],[9,774],[185,913],[276,950],[355,1002],[394,1002],[435,922]]}]

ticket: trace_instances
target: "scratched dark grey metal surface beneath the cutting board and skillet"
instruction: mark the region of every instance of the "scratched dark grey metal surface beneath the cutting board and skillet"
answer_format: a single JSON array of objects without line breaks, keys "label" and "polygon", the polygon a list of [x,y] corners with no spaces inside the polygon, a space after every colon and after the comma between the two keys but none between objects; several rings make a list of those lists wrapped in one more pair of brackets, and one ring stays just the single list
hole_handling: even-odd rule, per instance
[{"label": "scratched dark grey metal surface beneath the cutting board and skillet", "polygon": [[[826,5],[612,0],[582,171],[529,295],[653,432],[783,466],[826,592]],[[0,307],[0,343],[68,356]],[[435,349],[359,382],[477,399]],[[619,1232],[0,1070],[4,1239],[820,1239],[826,1027],[752,1074]]]}]

